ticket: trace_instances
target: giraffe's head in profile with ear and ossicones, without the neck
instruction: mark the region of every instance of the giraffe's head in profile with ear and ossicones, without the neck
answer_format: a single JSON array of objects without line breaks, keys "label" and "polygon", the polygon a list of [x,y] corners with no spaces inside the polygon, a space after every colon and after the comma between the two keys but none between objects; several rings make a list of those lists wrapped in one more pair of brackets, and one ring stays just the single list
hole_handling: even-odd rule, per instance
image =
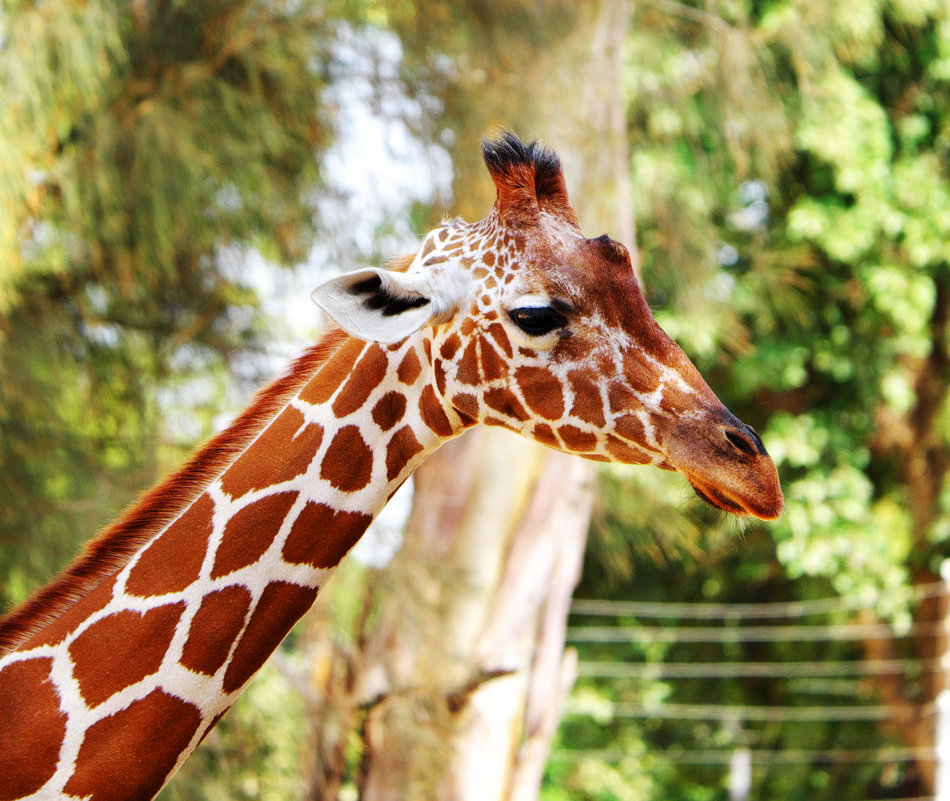
[{"label": "giraffe's head in profile with ear and ossicones, without the neck", "polygon": [[557,156],[513,134],[483,151],[497,188],[488,217],[447,222],[406,271],[338,276],[314,301],[362,339],[428,337],[438,392],[466,423],[676,470],[713,506],[777,517],[762,440],[653,319],[627,249],[581,232]]}]

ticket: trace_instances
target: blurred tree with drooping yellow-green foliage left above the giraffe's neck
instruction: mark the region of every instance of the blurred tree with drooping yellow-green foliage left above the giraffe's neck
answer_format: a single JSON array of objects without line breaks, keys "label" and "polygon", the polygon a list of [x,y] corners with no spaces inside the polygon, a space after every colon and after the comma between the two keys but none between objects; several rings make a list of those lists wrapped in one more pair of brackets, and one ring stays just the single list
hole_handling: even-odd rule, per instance
[{"label": "blurred tree with drooping yellow-green foliage left above the giraffe's neck", "polygon": [[294,2],[3,3],[0,607],[207,432],[163,406],[258,328],[240,249],[307,252],[330,41]]}]

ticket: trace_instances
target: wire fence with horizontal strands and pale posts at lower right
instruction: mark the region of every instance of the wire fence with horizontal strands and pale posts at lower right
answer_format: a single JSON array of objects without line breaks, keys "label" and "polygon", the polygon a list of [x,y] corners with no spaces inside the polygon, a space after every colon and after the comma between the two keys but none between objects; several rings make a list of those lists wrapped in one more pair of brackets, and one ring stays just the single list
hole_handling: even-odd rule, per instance
[{"label": "wire fence with horizontal strands and pale posts at lower right", "polygon": [[[946,597],[947,584],[937,581],[914,588],[915,601]],[[859,609],[869,604],[857,604],[841,597],[821,598],[791,603],[719,604],[719,603],[655,603],[642,601],[575,600],[572,604],[574,619],[604,618],[604,623],[584,622],[568,628],[568,643],[576,646],[598,646],[596,660],[581,659],[578,675],[590,679],[679,680],[761,679],[787,682],[788,687],[802,693],[845,696],[840,704],[813,704],[788,706],[745,706],[741,704],[676,703],[672,701],[644,701],[631,703],[615,701],[607,705],[591,703],[583,697],[570,701],[565,709],[568,718],[585,716],[610,719],[641,719],[643,721],[709,721],[728,723],[741,730],[744,724],[880,724],[894,719],[894,707],[874,702],[867,692],[867,681],[884,678],[924,677],[939,678],[934,674],[950,669],[950,659],[941,656],[947,651],[944,642],[948,622],[917,622],[896,631],[886,622],[867,622],[857,616]],[[945,607],[946,608],[946,607]],[[832,622],[828,618],[833,617]],[[849,622],[834,618],[858,617]],[[610,622],[613,621],[613,625]],[[735,659],[743,646],[762,644],[818,644],[881,641],[897,644],[914,638],[916,642],[935,638],[932,658],[854,658],[802,659],[801,661],[764,661],[761,648],[759,658]],[[719,651],[728,650],[732,659],[709,659],[705,649],[704,661],[630,661],[629,647],[638,646],[647,653],[649,646],[661,645],[717,645]],[[618,658],[604,658],[604,650],[611,646],[622,648]],[[892,648],[891,650],[896,650]],[[665,649],[661,648],[661,651]],[[682,653],[680,652],[680,657]],[[723,766],[734,769],[737,753],[753,766],[780,765],[895,765],[908,763],[936,764],[937,792],[934,796],[892,799],[892,801],[950,801],[950,742],[941,742],[937,732],[941,725],[950,730],[950,720],[943,720],[941,709],[950,710],[950,697],[945,704],[934,699],[925,700],[915,710],[916,719],[931,719],[935,732],[932,744],[919,747],[885,748],[756,748],[748,745],[726,748],[670,748],[661,753],[650,753],[651,759],[667,759],[681,765]],[[622,762],[630,754],[613,749],[556,750],[554,762],[582,762],[598,759]],[[737,796],[733,798],[746,798]]]}]

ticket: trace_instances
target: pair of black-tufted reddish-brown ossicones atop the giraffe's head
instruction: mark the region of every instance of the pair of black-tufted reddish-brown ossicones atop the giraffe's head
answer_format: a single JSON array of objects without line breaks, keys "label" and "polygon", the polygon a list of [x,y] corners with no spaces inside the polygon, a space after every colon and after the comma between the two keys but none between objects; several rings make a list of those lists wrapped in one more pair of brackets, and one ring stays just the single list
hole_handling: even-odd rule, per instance
[{"label": "pair of black-tufted reddish-brown ossicones atop the giraffe's head", "polygon": [[535,224],[546,212],[580,230],[557,153],[537,140],[526,145],[511,131],[503,131],[497,139],[482,140],[482,155],[505,222]]}]

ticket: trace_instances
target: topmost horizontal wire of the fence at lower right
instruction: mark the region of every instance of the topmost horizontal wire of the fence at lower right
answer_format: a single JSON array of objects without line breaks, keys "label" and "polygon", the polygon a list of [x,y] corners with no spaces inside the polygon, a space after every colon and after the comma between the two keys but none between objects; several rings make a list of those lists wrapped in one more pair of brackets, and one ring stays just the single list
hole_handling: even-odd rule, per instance
[{"label": "topmost horizontal wire of the fence at lower right", "polygon": [[[911,597],[915,601],[935,598],[947,591],[942,581],[933,581],[914,587]],[[658,603],[655,601],[601,601],[578,598],[571,602],[571,612],[577,615],[603,617],[630,616],[651,618],[680,618],[689,620],[734,620],[774,619],[804,617],[838,611],[854,611],[873,604],[862,600],[859,605],[844,597],[816,598],[809,601],[791,601],[764,604],[716,604],[716,603]]]}]

